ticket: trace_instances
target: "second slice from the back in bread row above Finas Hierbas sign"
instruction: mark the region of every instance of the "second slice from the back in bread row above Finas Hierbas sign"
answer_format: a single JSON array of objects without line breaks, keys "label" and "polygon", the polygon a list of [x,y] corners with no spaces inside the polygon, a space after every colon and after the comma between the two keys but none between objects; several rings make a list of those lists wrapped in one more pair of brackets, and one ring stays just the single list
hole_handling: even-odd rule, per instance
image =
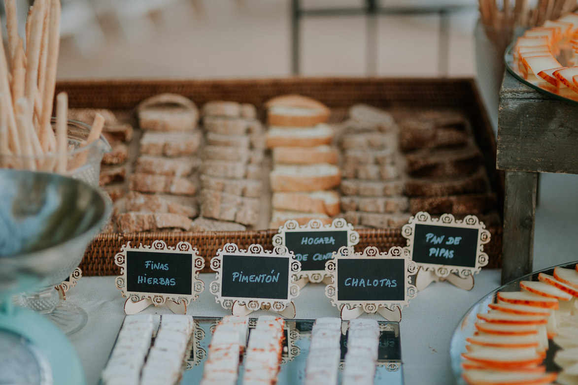
[{"label": "second slice from the back in bread row above Finas Hierbas sign", "polygon": [[183,156],[194,154],[203,134],[201,130],[192,132],[145,132],[140,139],[140,154]]}]

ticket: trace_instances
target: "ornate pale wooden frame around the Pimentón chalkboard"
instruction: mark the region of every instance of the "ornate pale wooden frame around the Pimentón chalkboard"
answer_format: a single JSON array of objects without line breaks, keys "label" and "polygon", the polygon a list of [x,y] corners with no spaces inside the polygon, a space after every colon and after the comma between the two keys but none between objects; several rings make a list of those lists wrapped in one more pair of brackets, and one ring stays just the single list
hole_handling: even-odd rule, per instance
[{"label": "ornate pale wooden frame around the Piment\u00f3n chalkboard", "polygon": [[[289,264],[289,281],[287,286],[287,299],[282,298],[237,298],[223,297],[223,256],[224,255],[242,255],[258,256],[271,258],[286,258]],[[236,303],[246,306],[248,311],[255,311],[264,306],[271,306],[271,309],[277,313],[283,312],[288,305],[293,305],[293,298],[299,296],[299,286],[295,282],[295,274],[301,270],[301,262],[295,259],[294,253],[290,252],[285,246],[276,246],[273,251],[265,251],[263,246],[253,244],[247,250],[239,249],[236,244],[228,243],[222,249],[218,249],[217,255],[210,261],[210,267],[216,272],[215,281],[210,283],[209,290],[214,294],[215,301],[220,303],[225,309],[232,309]]]}]

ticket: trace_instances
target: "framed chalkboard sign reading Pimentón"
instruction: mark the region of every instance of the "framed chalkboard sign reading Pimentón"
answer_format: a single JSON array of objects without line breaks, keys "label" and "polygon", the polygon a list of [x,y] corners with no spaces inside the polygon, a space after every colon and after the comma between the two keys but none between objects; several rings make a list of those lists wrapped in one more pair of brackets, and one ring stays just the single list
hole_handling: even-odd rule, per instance
[{"label": "framed chalkboard sign reading Piment\u00f3n", "polygon": [[293,282],[301,263],[284,246],[271,252],[261,245],[239,250],[235,244],[226,244],[211,260],[211,268],[217,272],[211,293],[225,309],[237,301],[251,309],[271,305],[279,312],[299,295],[299,286]]}]

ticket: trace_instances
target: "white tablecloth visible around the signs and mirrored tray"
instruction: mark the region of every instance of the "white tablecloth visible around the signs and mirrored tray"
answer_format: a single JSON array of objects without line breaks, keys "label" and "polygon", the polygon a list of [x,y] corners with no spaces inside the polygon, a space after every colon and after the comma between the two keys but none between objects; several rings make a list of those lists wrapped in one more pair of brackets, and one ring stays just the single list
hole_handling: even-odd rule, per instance
[{"label": "white tablecloth visible around the signs and mirrored tray", "polygon": [[[406,385],[450,384],[450,339],[462,316],[481,297],[499,286],[499,270],[482,270],[475,276],[471,291],[449,283],[432,283],[420,291],[409,307],[402,311],[402,368]],[[190,306],[193,316],[224,316],[230,314],[217,304],[208,290],[214,274],[201,274],[205,291]],[[325,297],[325,286],[307,285],[295,299],[297,318],[339,317],[339,311]],[[112,350],[114,339],[124,318],[124,301],[114,286],[114,276],[83,277],[67,294],[68,300],[88,313],[86,326],[71,337],[88,385],[98,384],[99,374]],[[167,308],[150,306],[144,312],[168,313]]]}]

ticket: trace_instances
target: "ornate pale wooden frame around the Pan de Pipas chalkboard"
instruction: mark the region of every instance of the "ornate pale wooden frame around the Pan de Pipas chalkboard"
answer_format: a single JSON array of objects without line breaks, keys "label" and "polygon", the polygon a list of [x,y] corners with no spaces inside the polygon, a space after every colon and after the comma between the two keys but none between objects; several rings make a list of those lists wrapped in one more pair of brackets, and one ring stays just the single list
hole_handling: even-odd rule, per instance
[{"label": "ornate pale wooden frame around the Pan de Pipas chalkboard", "polygon": [[[418,225],[433,225],[433,226],[446,226],[446,227],[461,227],[464,229],[476,229],[478,230],[477,237],[477,257],[475,267],[466,266],[451,266],[444,264],[432,264],[432,263],[420,263],[416,262],[417,266],[424,271],[432,271],[439,278],[447,278],[450,273],[457,273],[457,275],[462,279],[472,279],[473,287],[473,274],[476,274],[481,270],[482,267],[488,264],[488,255],[484,253],[484,245],[490,242],[490,231],[486,230],[486,225],[475,215],[468,215],[464,219],[455,219],[451,214],[443,214],[440,218],[432,218],[427,212],[420,211],[416,215],[409,218],[409,222],[403,225],[401,234],[407,239],[407,245],[405,249],[410,255],[413,256],[413,242],[416,233],[416,224]],[[448,279],[448,281],[450,281]],[[459,286],[459,285],[456,285]],[[470,287],[471,289],[471,287]]]}]

